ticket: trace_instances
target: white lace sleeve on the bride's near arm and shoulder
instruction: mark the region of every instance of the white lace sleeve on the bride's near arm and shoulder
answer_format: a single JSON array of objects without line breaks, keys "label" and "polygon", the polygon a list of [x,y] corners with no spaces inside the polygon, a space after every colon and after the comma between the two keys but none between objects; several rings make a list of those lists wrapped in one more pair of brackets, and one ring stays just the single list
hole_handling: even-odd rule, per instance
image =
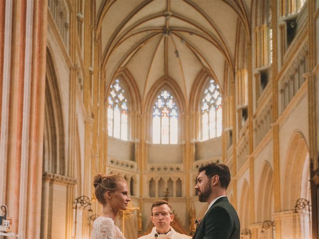
[{"label": "white lace sleeve on the bride's near arm and shoulder", "polygon": [[97,218],[93,224],[91,239],[114,239],[114,225],[110,220]]}]

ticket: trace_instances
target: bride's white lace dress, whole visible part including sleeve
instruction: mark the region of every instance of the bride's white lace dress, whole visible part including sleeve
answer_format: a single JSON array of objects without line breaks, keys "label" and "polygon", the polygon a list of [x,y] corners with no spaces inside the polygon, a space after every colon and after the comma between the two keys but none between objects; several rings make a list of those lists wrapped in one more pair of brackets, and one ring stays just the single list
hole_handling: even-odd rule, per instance
[{"label": "bride's white lace dress, whole visible part including sleeve", "polygon": [[98,217],[93,223],[91,239],[125,239],[112,218]]}]

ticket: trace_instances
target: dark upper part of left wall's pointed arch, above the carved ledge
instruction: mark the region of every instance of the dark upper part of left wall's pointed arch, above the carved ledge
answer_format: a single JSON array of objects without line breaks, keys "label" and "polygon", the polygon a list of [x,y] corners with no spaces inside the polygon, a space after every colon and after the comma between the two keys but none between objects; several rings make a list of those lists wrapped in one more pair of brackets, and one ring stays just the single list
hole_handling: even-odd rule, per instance
[{"label": "dark upper part of left wall's pointed arch, above the carved ledge", "polygon": [[55,63],[49,48],[46,53],[44,104],[43,171],[65,175],[65,129],[63,103]]}]

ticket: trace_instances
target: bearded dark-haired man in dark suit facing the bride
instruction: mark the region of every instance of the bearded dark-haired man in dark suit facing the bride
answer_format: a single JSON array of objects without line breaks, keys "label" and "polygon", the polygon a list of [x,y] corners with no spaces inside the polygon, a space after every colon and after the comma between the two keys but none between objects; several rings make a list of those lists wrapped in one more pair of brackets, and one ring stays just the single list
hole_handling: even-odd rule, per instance
[{"label": "bearded dark-haired man in dark suit facing the bride", "polygon": [[210,163],[199,167],[195,190],[198,191],[199,202],[207,202],[209,206],[193,239],[240,238],[238,215],[226,197],[229,183],[227,165]]}]

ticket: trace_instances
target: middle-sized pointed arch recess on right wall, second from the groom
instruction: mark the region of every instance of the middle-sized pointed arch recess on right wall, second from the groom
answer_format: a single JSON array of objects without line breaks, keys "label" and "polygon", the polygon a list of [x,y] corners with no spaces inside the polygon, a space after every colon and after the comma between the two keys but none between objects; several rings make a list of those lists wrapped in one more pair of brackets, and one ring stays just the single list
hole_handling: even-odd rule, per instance
[{"label": "middle-sized pointed arch recess on right wall, second from the groom", "polygon": [[259,191],[258,191],[258,200],[257,200],[257,208],[260,213],[257,214],[257,222],[271,220],[273,207],[274,207],[273,170],[268,161],[264,162],[262,168],[263,170],[261,173],[261,177],[259,179]]}]

